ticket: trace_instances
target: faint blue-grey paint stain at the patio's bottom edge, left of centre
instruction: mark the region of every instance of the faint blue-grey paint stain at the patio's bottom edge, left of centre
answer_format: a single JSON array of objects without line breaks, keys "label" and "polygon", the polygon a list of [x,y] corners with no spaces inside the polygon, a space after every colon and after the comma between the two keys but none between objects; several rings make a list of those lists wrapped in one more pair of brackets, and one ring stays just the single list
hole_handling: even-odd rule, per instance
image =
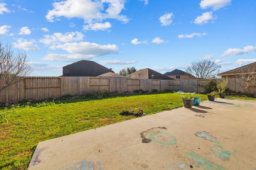
[{"label": "faint blue-grey paint stain at the patio's bottom edge, left of centre", "polygon": [[95,163],[93,161],[82,160],[80,162],[72,164],[69,168],[66,168],[65,170],[104,170],[104,168],[102,168],[99,161]]}]

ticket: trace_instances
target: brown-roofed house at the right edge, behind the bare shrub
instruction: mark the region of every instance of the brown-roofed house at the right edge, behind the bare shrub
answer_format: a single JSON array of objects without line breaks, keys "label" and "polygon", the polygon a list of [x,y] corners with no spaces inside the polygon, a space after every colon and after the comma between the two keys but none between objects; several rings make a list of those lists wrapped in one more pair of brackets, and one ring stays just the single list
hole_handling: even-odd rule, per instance
[{"label": "brown-roofed house at the right edge, behind the bare shrub", "polygon": [[244,74],[248,74],[249,72],[256,74],[256,62],[235,68],[233,70],[222,72],[218,74],[218,76],[221,76],[222,78],[226,78],[226,76],[228,78],[236,78],[236,74],[241,74],[242,71]]}]

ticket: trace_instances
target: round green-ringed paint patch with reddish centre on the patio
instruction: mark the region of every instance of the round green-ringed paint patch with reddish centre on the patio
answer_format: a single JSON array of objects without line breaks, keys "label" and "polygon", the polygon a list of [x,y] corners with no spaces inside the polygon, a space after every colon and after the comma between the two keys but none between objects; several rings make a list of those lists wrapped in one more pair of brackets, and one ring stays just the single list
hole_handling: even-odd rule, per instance
[{"label": "round green-ringed paint patch with reddish centre on the patio", "polygon": [[155,141],[164,145],[174,145],[177,143],[175,137],[170,136],[162,131],[154,131],[149,134],[148,137],[151,141]]}]

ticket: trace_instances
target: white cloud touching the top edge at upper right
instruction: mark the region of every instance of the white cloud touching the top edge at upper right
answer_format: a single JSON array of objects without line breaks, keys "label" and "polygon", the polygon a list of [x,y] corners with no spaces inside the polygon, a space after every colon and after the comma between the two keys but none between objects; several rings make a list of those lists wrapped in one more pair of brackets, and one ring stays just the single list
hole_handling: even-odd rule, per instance
[{"label": "white cloud touching the top edge at upper right", "polygon": [[224,6],[228,6],[232,0],[202,0],[200,7],[202,9],[212,8],[212,10],[218,10]]}]

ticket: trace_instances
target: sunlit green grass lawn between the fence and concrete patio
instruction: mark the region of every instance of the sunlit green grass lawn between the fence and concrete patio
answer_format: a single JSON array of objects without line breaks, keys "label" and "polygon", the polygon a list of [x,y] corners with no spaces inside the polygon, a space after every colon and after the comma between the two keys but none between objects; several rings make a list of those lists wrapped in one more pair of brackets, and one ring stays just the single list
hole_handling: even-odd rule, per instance
[{"label": "sunlit green grass lawn between the fence and concrete patio", "polygon": [[[120,111],[126,109],[142,107],[150,115],[182,107],[181,96],[162,92],[1,108],[0,114],[4,115],[8,124],[6,119],[0,117],[0,169],[27,169],[40,141],[136,118],[119,115]],[[201,97],[201,101],[206,100],[203,94],[193,96]]]}]

